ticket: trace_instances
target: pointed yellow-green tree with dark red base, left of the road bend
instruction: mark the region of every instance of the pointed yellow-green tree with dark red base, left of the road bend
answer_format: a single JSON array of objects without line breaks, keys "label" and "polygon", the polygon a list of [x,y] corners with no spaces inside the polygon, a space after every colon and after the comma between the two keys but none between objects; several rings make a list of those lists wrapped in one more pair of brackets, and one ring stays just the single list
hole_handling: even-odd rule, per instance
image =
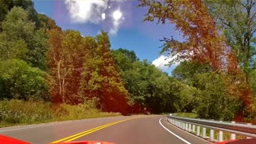
[{"label": "pointed yellow-green tree with dark red base, left of the road bend", "polygon": [[126,113],[128,93],[110,54],[108,34],[102,31],[95,39],[86,39],[92,46],[83,63],[82,94],[99,98],[102,110]]}]

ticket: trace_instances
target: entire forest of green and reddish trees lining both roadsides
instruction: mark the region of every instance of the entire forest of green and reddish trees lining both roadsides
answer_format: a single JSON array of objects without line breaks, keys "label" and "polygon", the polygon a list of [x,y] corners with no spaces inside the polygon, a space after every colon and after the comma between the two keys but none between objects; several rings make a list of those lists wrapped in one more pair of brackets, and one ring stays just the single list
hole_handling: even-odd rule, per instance
[{"label": "entire forest of green and reddish trees lining both roadsides", "polygon": [[[47,121],[69,107],[256,122],[256,2],[139,2],[145,22],[174,23],[183,34],[185,42],[162,38],[161,54],[178,55],[172,74],[111,47],[106,31],[82,36],[38,14],[31,0],[0,0],[0,120],[34,113]],[[30,111],[17,112],[22,105]]]}]

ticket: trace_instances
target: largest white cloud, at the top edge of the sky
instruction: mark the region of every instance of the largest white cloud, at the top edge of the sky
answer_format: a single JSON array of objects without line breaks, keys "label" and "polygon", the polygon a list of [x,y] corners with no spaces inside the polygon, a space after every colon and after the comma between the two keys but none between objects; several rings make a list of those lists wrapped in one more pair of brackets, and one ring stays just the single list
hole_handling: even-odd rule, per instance
[{"label": "largest white cloud, at the top edge of the sky", "polygon": [[72,22],[98,23],[107,8],[108,0],[65,0]]}]

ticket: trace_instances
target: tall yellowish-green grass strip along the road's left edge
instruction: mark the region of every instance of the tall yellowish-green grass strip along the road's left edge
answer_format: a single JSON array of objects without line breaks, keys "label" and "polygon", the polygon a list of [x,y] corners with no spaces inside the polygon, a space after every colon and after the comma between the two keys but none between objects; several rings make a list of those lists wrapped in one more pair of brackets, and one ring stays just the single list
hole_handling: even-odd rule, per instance
[{"label": "tall yellowish-green grass strip along the road's left edge", "polygon": [[2,100],[0,101],[0,127],[121,115],[102,112],[96,108],[93,101],[88,100],[76,106],[68,104],[54,106],[50,102]]}]

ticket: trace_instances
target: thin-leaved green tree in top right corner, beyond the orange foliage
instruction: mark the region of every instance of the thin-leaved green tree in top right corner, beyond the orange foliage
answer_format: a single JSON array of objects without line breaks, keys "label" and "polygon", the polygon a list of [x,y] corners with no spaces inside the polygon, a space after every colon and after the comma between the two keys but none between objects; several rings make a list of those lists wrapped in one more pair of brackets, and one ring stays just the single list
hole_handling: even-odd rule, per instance
[{"label": "thin-leaved green tree in top right corner, beyond the orange foliage", "polygon": [[246,82],[248,82],[250,71],[255,69],[256,2],[205,0],[204,3],[225,34],[227,43],[232,47],[239,66],[246,73]]}]

